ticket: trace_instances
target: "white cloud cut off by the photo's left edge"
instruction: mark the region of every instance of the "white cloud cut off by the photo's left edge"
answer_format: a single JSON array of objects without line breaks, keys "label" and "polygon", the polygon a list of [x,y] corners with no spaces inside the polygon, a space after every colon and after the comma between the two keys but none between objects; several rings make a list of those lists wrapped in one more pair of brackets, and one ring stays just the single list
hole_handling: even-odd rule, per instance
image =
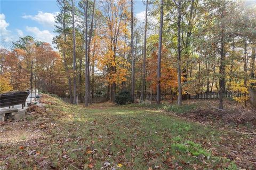
[{"label": "white cloud cut off by the photo's left edge", "polygon": [[7,30],[7,27],[9,25],[10,24],[5,21],[5,15],[3,13],[1,13],[0,14],[0,39],[1,39],[1,41],[4,41],[4,42],[11,41],[11,39],[12,39],[10,36],[11,31]]}]

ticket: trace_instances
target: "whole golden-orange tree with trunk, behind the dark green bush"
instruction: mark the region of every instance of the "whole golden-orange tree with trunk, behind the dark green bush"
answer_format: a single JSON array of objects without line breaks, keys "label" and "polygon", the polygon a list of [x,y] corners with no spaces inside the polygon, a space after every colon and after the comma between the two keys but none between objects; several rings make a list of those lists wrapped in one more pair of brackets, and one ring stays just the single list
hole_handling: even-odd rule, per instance
[{"label": "whole golden-orange tree with trunk, behind the dark green bush", "polygon": [[[116,85],[119,80],[126,80],[126,69],[119,67],[126,64],[121,56],[117,55],[119,51],[126,50],[121,46],[122,35],[127,34],[127,21],[129,21],[126,0],[118,2],[107,0],[102,2],[102,17],[106,23],[104,26],[104,37],[106,53],[105,59],[101,60],[107,66],[108,84],[110,90],[110,101],[115,102]],[[118,66],[118,64],[120,64]],[[119,72],[117,69],[120,69]]]}]

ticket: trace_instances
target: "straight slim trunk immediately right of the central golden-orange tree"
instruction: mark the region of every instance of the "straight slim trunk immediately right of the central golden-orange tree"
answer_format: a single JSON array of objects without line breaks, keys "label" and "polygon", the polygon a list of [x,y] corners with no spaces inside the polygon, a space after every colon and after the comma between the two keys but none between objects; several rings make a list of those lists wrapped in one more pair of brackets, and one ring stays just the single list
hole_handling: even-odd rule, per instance
[{"label": "straight slim trunk immediately right of the central golden-orange tree", "polygon": [[135,102],[135,66],[134,66],[134,53],[133,53],[133,0],[131,0],[131,55],[132,55],[132,102]]}]

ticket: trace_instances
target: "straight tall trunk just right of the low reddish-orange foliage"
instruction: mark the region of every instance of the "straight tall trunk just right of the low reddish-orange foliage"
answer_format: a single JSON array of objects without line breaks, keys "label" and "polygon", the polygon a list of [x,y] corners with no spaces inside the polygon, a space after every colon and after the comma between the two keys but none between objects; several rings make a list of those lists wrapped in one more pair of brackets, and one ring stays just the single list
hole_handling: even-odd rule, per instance
[{"label": "straight tall trunk just right of the low reddish-orange foliage", "polygon": [[179,0],[178,2],[178,106],[181,106],[181,102],[182,102],[182,88],[181,88],[181,46],[180,46],[180,22],[181,22],[181,1]]}]

